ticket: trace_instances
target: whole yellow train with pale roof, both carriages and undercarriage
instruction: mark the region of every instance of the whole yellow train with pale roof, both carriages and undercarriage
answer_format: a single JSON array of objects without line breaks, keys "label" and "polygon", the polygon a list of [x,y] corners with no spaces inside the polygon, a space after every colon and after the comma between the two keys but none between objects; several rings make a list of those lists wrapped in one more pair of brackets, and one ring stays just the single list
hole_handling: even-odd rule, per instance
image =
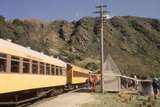
[{"label": "whole yellow train with pale roof, both carriages and undercarriage", "polygon": [[0,104],[19,104],[29,98],[81,87],[90,73],[88,69],[0,39]]}]

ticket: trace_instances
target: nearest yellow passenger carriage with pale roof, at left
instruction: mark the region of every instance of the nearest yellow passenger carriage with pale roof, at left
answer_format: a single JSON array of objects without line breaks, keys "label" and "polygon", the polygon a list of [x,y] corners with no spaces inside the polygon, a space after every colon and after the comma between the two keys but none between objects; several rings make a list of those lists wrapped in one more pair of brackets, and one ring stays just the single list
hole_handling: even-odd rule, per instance
[{"label": "nearest yellow passenger carriage with pale roof, at left", "polygon": [[66,67],[59,59],[0,39],[0,101],[9,93],[62,90],[67,82]]}]

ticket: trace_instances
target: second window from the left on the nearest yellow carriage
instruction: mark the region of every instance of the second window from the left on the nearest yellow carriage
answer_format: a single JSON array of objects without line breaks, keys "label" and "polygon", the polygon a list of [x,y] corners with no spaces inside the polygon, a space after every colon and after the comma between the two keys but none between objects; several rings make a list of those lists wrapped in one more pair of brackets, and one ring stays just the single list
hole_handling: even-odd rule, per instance
[{"label": "second window from the left on the nearest yellow carriage", "polygon": [[11,72],[18,73],[19,72],[19,58],[12,56],[11,57]]}]

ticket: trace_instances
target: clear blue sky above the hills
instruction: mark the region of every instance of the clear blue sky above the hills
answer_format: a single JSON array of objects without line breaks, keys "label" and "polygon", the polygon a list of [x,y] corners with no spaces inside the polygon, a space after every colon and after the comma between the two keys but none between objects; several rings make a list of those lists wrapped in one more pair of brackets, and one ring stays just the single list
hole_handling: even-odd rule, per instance
[{"label": "clear blue sky above the hills", "polygon": [[[77,20],[95,16],[100,0],[0,0],[0,15],[7,19]],[[112,16],[160,19],[160,0],[103,0]]]}]

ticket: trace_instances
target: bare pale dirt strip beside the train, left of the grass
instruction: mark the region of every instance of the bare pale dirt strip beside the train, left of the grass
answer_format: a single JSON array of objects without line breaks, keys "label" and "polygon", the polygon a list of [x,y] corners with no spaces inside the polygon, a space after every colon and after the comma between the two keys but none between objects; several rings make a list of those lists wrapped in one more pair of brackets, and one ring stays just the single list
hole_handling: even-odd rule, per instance
[{"label": "bare pale dirt strip beside the train, left of the grass", "polygon": [[80,107],[95,100],[94,95],[83,90],[65,93],[55,98],[39,101],[29,107]]}]

